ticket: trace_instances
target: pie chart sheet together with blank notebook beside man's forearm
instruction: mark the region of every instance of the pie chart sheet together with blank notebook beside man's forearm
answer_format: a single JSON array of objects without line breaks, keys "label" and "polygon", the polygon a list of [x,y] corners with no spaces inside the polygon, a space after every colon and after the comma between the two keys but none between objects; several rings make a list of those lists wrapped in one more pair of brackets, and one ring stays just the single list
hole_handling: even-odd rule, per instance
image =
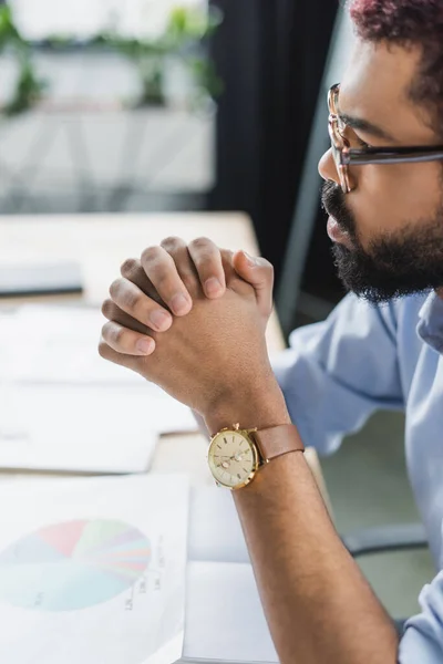
[{"label": "pie chart sheet together with blank notebook beside man's forearm", "polygon": [[0,662],[278,662],[228,491],[151,475],[0,502]]}]

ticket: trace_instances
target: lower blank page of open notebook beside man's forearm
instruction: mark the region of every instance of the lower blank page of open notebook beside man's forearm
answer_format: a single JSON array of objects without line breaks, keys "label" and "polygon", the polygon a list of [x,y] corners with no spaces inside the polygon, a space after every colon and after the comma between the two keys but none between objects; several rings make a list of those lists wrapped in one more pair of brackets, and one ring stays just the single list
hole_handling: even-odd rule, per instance
[{"label": "lower blank page of open notebook beside man's forearm", "polygon": [[250,564],[188,563],[182,660],[278,662]]}]

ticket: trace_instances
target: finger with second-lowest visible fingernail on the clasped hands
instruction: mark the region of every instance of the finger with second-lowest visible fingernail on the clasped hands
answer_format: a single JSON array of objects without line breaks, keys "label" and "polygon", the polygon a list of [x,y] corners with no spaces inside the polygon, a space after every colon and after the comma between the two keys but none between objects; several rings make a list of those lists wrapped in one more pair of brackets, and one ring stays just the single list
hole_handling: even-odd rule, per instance
[{"label": "finger with second-lowest visible fingernail on the clasped hands", "polygon": [[128,279],[116,279],[110,288],[112,300],[133,319],[156,332],[165,332],[173,323],[171,313],[148,298]]}]

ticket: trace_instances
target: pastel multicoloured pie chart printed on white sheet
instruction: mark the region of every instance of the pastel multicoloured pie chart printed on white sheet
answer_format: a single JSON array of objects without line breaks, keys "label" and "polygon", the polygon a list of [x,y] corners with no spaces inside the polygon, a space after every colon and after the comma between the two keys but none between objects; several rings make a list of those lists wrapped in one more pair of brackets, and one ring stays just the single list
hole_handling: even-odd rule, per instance
[{"label": "pastel multicoloured pie chart printed on white sheet", "polygon": [[128,523],[53,523],[0,552],[0,601],[38,611],[87,609],[132,588],[150,559],[150,540]]}]

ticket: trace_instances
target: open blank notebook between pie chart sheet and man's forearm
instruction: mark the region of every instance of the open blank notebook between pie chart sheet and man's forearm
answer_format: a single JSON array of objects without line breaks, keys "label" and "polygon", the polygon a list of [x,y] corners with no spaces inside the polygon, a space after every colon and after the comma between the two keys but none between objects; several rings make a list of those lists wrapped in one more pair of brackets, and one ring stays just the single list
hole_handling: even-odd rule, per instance
[{"label": "open blank notebook between pie chart sheet and man's forearm", "polygon": [[216,487],[190,495],[181,662],[278,662],[233,496]]}]

